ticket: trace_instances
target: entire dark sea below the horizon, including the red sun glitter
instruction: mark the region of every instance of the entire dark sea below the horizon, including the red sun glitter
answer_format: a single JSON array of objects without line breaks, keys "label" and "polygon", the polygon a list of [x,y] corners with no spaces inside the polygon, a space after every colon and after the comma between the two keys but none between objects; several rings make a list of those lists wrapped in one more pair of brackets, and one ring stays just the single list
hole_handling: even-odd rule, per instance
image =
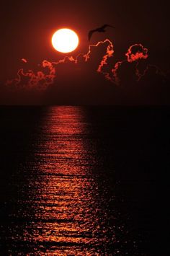
[{"label": "entire dark sea below the horizon, including the red sun glitter", "polygon": [[0,107],[0,255],[168,255],[169,110]]}]

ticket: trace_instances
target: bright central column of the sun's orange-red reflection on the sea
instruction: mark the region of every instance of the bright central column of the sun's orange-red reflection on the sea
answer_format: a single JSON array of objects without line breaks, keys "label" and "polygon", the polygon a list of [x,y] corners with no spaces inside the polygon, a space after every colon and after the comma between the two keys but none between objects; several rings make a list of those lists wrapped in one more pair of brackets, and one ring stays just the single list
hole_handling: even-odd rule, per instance
[{"label": "bright central column of the sun's orange-red reflection on the sea", "polygon": [[89,132],[80,107],[51,107],[44,120],[28,191],[34,219],[24,228],[24,240],[36,244],[34,255],[107,252],[107,213],[93,173],[101,162]]}]

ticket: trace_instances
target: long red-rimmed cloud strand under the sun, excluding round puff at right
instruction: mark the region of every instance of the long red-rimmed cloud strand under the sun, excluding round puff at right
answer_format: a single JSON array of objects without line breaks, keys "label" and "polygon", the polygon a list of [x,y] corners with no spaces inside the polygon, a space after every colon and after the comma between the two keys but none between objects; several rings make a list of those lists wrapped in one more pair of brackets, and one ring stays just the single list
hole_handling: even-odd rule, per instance
[{"label": "long red-rimmed cloud strand under the sun, excluding round puff at right", "polygon": [[[81,61],[83,59],[84,62],[88,62],[91,58],[91,53],[93,52],[94,48],[98,48],[99,45],[107,45],[104,55],[102,56],[102,60],[98,63],[97,72],[102,73],[106,78],[109,79],[109,73],[102,71],[104,65],[107,65],[107,59],[113,56],[114,50],[112,42],[109,39],[101,41],[96,45],[89,45],[89,50],[86,54],[80,53],[76,58],[73,56],[66,56],[65,58],[56,61],[42,61],[39,65],[39,71],[33,71],[29,69],[24,71],[24,69],[19,69],[17,71],[17,78],[8,79],[6,81],[7,86],[15,86],[17,89],[24,88],[24,89],[47,89],[51,84],[54,83],[55,79],[58,77],[57,66],[62,63],[74,63],[78,64],[78,60]],[[24,63],[27,63],[27,60],[22,58]]]}]

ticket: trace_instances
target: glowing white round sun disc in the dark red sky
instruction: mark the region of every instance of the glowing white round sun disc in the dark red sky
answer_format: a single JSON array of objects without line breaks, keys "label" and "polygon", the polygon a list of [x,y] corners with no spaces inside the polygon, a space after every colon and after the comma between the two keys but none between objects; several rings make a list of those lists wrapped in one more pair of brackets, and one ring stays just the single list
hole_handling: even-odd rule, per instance
[{"label": "glowing white round sun disc in the dark red sky", "polygon": [[79,37],[73,30],[62,28],[53,34],[51,42],[55,50],[61,53],[71,53],[79,45]]}]

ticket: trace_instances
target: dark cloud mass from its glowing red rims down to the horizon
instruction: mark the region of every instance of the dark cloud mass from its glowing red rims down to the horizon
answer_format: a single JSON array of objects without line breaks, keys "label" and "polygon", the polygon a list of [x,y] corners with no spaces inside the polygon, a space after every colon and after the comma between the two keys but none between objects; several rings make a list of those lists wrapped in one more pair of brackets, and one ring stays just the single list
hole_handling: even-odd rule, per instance
[{"label": "dark cloud mass from its glowing red rims down to the horizon", "polygon": [[[148,63],[148,48],[141,43],[131,45],[126,58],[117,62],[114,53],[113,43],[106,39],[89,45],[86,54],[75,58],[45,60],[36,70],[19,69],[16,78],[6,81],[6,88],[18,99],[48,104],[169,103],[169,79]],[[22,58],[22,62],[26,69],[28,61]]]}]

